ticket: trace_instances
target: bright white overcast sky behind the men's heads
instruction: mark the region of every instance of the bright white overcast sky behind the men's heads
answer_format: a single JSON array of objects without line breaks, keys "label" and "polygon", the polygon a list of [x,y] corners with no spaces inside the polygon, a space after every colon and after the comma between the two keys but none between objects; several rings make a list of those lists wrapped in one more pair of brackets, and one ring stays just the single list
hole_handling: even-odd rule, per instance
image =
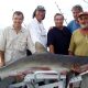
[{"label": "bright white overcast sky behind the men's heads", "polygon": [[[37,6],[46,9],[45,29],[54,25],[55,13],[64,14],[67,23],[73,20],[72,8],[80,4],[85,11],[88,11],[88,0],[1,0],[0,2],[0,32],[12,24],[12,14],[14,11],[22,11],[24,14],[23,25],[28,25],[32,20],[33,11]],[[61,10],[61,11],[59,11]],[[66,25],[66,22],[64,22]]]}]

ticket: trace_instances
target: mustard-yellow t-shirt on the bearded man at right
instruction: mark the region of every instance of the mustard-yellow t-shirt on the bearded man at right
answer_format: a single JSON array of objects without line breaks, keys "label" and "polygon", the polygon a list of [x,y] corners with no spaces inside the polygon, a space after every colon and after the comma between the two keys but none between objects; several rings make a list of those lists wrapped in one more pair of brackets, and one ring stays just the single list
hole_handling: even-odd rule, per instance
[{"label": "mustard-yellow t-shirt on the bearded man at right", "polygon": [[88,56],[88,35],[81,34],[80,29],[73,33],[69,51],[78,56]]}]

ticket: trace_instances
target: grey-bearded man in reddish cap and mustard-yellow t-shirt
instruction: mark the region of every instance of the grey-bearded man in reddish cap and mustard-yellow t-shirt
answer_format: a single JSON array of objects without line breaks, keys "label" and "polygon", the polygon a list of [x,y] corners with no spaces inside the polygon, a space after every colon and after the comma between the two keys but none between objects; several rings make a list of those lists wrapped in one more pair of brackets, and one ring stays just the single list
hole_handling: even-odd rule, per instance
[{"label": "grey-bearded man in reddish cap and mustard-yellow t-shirt", "polygon": [[70,40],[69,54],[76,56],[88,56],[88,12],[78,15],[80,29],[76,30]]}]

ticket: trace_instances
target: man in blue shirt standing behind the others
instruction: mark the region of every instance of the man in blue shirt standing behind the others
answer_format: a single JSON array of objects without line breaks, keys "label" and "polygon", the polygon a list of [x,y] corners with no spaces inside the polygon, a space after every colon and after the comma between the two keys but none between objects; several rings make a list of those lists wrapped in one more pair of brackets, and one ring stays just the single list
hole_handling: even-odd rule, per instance
[{"label": "man in blue shirt standing behind the others", "polygon": [[79,6],[79,4],[74,6],[73,9],[72,9],[72,12],[73,12],[74,20],[72,20],[67,25],[70,33],[73,33],[75,30],[80,28],[80,25],[78,23],[78,14],[80,12],[82,12],[81,6]]}]

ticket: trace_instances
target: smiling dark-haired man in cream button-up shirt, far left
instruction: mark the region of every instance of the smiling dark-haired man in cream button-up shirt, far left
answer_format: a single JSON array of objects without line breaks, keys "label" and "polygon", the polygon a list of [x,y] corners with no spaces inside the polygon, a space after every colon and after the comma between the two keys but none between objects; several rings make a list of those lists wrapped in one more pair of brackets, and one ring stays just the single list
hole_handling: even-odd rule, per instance
[{"label": "smiling dark-haired man in cream button-up shirt, far left", "polygon": [[23,13],[15,11],[13,24],[3,30],[0,38],[0,66],[26,56],[26,45],[32,53],[35,52],[30,33],[22,26],[23,20]]}]

